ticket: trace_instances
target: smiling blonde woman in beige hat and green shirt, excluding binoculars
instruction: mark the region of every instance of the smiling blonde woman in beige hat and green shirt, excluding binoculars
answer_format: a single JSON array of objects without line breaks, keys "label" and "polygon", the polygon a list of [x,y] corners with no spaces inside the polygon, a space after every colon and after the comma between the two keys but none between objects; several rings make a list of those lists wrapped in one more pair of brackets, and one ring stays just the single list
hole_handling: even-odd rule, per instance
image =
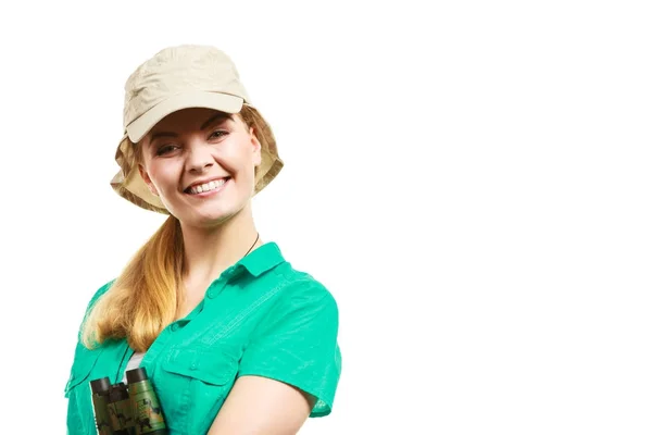
[{"label": "smiling blonde woman in beige hat and green shirt, excluding binoculars", "polygon": [[68,433],[96,431],[91,380],[142,366],[171,434],[294,434],[330,413],[338,309],[255,228],[251,198],[283,167],[272,130],[212,47],[162,50],[125,90],[112,186],[170,217],[88,306]]}]

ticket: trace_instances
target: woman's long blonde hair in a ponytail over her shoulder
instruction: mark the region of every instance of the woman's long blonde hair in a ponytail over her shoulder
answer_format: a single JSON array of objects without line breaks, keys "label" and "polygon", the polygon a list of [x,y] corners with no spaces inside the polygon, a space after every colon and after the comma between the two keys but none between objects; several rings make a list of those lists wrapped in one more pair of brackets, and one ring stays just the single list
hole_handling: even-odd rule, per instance
[{"label": "woman's long blonde hair in a ponytail over her shoulder", "polygon": [[[243,105],[238,116],[254,128],[261,140],[260,126],[250,107]],[[141,163],[141,146],[134,147],[136,163]],[[84,346],[91,349],[106,339],[126,337],[134,350],[147,351],[161,331],[175,320],[183,302],[184,257],[180,222],[170,215],[90,308],[82,326]]]}]

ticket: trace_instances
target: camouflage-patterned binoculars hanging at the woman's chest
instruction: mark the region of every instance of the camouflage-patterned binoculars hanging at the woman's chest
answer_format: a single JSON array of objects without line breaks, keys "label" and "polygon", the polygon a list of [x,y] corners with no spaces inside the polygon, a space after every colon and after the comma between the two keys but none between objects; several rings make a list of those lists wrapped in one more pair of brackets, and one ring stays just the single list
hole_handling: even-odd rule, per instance
[{"label": "camouflage-patterned binoculars hanging at the woman's chest", "polygon": [[167,435],[165,419],[145,368],[127,371],[127,385],[90,382],[99,435]]}]

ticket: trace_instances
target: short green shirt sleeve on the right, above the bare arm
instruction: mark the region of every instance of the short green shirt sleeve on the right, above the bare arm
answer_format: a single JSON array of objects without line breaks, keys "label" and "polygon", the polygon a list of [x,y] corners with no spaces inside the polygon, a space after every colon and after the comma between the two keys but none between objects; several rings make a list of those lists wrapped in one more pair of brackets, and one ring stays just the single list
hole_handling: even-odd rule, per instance
[{"label": "short green shirt sleeve on the right, above the bare arm", "polygon": [[244,349],[238,376],[290,384],[316,398],[310,417],[328,415],[341,372],[338,307],[317,282],[289,285]]}]

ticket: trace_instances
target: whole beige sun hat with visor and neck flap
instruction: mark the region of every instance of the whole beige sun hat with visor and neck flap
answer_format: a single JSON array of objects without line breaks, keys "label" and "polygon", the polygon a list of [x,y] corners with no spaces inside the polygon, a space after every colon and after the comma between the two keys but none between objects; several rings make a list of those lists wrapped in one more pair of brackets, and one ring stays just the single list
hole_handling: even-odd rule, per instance
[{"label": "whole beige sun hat with visor and neck flap", "polygon": [[142,63],[125,84],[124,136],[115,152],[120,172],[111,181],[123,198],[146,210],[170,214],[138,171],[134,144],[159,121],[177,110],[214,109],[240,112],[247,104],[254,116],[262,159],[255,171],[254,195],[283,169],[272,128],[250,103],[236,65],[223,51],[211,46],[177,46],[159,51]]}]

